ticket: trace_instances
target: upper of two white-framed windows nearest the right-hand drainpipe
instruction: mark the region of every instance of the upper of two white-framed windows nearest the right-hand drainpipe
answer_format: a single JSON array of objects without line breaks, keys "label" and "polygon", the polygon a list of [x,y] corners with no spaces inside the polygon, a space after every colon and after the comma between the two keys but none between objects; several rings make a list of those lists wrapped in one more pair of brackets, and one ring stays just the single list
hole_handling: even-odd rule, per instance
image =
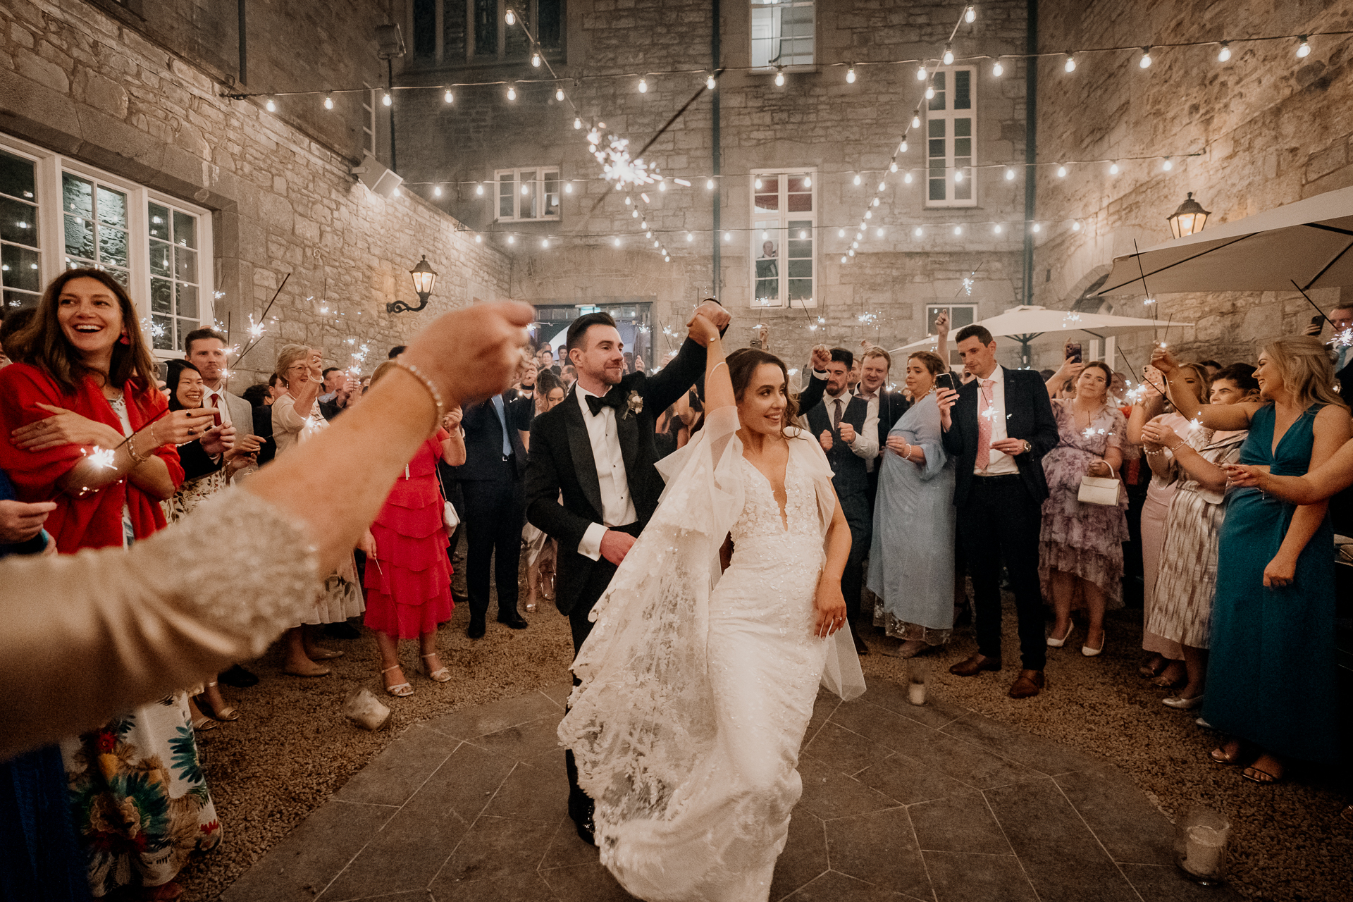
[{"label": "upper of two white-framed windows nearest the right-hand drainpipe", "polygon": [[925,110],[927,207],[976,207],[973,150],[977,111],[976,69],[940,69],[931,76],[935,96]]}]

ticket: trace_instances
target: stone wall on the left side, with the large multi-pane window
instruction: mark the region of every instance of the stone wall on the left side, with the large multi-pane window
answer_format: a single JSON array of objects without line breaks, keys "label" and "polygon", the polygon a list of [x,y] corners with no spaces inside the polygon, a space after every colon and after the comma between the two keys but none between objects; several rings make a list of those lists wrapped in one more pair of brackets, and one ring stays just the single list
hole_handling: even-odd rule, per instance
[{"label": "stone wall on the left side, with the large multi-pane window", "polygon": [[[306,46],[290,31],[273,41],[279,54]],[[222,323],[260,315],[292,273],[244,384],[271,372],[277,343],[307,342],[342,365],[368,343],[369,371],[437,312],[509,295],[511,261],[446,212],[407,192],[371,195],[336,149],[222,92],[88,3],[0,7],[0,133],[211,210]],[[429,308],[387,314],[386,302],[417,302],[407,270],[421,254],[440,273]]]}]

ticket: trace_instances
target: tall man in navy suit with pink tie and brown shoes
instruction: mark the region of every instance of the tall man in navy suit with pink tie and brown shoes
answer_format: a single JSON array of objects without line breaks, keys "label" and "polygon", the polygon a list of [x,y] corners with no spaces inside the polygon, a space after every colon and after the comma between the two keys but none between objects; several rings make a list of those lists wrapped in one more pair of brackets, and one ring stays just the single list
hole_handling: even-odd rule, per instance
[{"label": "tall man in navy suit with pink tie and brown shoes", "polygon": [[996,362],[996,341],[984,326],[958,331],[958,353],[977,376],[957,392],[936,394],[944,450],[957,461],[954,506],[958,542],[973,577],[977,655],[948,668],[955,676],[1001,669],[1001,556],[1015,590],[1023,669],[1011,698],[1038,695],[1047,659],[1038,537],[1047,480],[1043,454],[1058,442],[1053,404],[1042,377]]}]

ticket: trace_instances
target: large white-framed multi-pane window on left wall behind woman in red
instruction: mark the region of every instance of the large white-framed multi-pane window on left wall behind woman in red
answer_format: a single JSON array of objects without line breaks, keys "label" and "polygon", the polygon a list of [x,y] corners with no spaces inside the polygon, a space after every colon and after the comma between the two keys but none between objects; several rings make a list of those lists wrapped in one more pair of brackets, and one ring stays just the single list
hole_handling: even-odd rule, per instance
[{"label": "large white-framed multi-pane window on left wall behind woman in red", "polygon": [[[157,357],[212,322],[211,216],[142,185],[0,137],[5,310],[32,307],[62,269],[107,270],[131,293]],[[43,249],[60,249],[60,252]]]}]

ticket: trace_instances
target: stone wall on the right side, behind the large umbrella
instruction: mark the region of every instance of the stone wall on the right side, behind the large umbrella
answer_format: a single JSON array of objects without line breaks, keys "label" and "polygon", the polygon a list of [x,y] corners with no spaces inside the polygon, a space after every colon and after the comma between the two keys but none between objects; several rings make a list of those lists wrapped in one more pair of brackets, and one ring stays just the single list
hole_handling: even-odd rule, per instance
[{"label": "stone wall on the right side, behind the large umbrella", "polygon": [[[1353,28],[1353,9],[1323,3],[1162,3],[1057,0],[1042,4],[1045,51],[1162,45]],[[1138,68],[1139,51],[1082,57],[1072,74],[1051,58],[1039,72],[1039,160],[1200,156],[1073,166],[1058,179],[1042,169],[1039,218],[1049,224],[1035,254],[1035,298],[1069,307],[1108,272],[1112,258],[1170,238],[1166,216],[1193,192],[1212,211],[1210,226],[1353,184],[1353,78],[1349,37],[1316,37],[1299,60],[1296,41],[1161,49]],[[1070,231],[1070,220],[1082,223]],[[1327,311],[1335,291],[1312,295]],[[1112,298],[1115,312],[1143,315],[1141,296]],[[1093,308],[1093,302],[1091,308]],[[1314,311],[1296,292],[1161,295],[1161,321],[1185,357],[1252,361],[1265,338],[1300,331]],[[1141,366],[1150,333],[1122,339]],[[1042,356],[1050,364],[1058,354]],[[1123,368],[1123,357],[1115,361]]]}]

